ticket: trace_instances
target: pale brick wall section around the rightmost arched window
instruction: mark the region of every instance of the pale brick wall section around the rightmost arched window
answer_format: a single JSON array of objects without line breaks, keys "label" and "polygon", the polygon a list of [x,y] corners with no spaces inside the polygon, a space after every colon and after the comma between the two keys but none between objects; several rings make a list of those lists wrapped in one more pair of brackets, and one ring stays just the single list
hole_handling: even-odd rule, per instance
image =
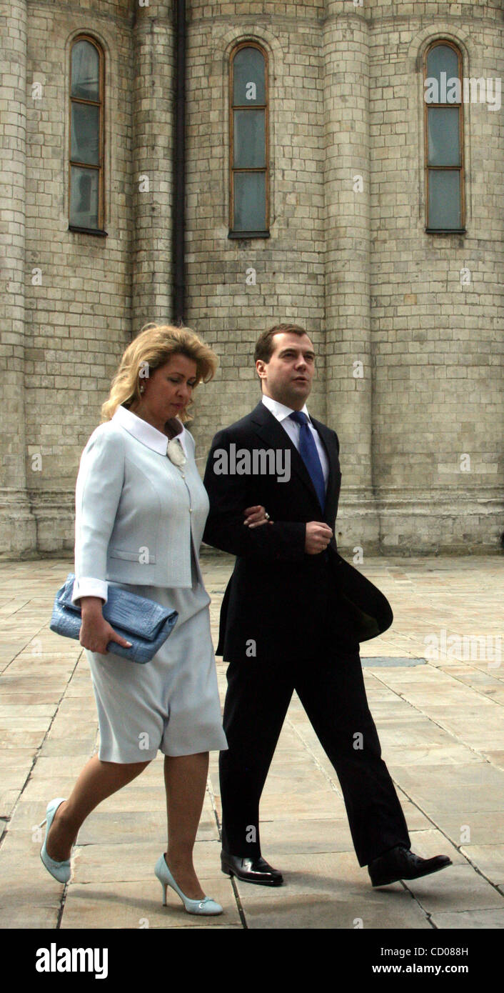
[{"label": "pale brick wall section around the rightmost arched window", "polygon": [[426,550],[497,546],[502,530],[503,111],[464,106],[466,234],[426,233],[423,168],[426,48],[451,39],[463,75],[502,77],[502,28],[487,4],[426,25],[433,6],[450,7],[416,3],[407,24],[372,28],[373,463],[388,550],[415,535]]}]

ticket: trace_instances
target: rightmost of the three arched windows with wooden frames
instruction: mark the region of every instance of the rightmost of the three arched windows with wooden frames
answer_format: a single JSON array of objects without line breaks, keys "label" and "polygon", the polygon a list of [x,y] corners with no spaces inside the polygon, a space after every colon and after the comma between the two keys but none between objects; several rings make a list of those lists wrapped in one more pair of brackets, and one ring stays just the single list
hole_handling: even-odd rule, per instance
[{"label": "rightmost of the three arched windows with wooden frames", "polygon": [[425,60],[427,230],[463,231],[462,57],[448,41],[431,45]]}]

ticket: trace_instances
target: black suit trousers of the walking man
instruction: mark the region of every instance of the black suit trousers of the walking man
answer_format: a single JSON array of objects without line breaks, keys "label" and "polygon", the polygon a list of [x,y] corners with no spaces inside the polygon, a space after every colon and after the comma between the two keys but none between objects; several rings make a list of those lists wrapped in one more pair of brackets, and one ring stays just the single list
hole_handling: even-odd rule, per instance
[{"label": "black suit trousers of the walking man", "polygon": [[[358,644],[357,644],[358,649]],[[395,845],[410,848],[404,813],[381,758],[358,650],[332,643],[303,660],[272,666],[231,661],[224,707],[228,751],[219,758],[222,848],[261,854],[259,801],[296,690],[343,793],[359,865]]]}]

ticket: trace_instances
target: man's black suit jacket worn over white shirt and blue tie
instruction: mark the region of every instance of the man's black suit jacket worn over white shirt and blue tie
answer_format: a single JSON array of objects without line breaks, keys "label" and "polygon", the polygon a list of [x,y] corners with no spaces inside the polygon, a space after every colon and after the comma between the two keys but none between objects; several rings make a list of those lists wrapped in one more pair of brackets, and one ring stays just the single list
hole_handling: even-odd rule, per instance
[{"label": "man's black suit jacket worn over white shirt and blue tie", "polygon": [[[309,521],[323,520],[334,531],[341,483],[337,435],[312,421],[329,465],[323,511],[296,446],[264,403],[213,439],[204,475],[210,510],[203,541],[236,555],[220,613],[217,653],[226,660],[273,661],[279,653],[310,657],[315,649],[323,650],[329,634],[326,620],[334,613],[353,641],[375,638],[392,624],[388,601],[341,558],[334,537],[326,552],[305,552]],[[284,464],[285,453],[290,453],[288,482],[278,482],[276,472],[219,472],[223,452],[228,467],[239,468],[240,451],[264,449],[282,451]],[[273,524],[244,525],[243,510],[255,504],[266,507]]]}]

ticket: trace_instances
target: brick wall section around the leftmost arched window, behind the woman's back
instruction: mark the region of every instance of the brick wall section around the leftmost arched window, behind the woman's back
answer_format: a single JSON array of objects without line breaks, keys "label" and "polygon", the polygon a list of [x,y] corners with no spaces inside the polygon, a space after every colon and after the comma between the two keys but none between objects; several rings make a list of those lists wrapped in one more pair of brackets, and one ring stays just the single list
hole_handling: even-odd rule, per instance
[{"label": "brick wall section around the leftmost arched window, behind the woman's back", "polygon": [[[105,56],[107,237],[68,230],[69,49],[81,32],[92,35]],[[132,69],[132,19],[125,4],[44,2],[31,9],[25,411],[28,488],[41,551],[71,542],[80,452],[99,423],[131,335]],[[31,96],[33,82],[42,83],[38,99]]]}]

